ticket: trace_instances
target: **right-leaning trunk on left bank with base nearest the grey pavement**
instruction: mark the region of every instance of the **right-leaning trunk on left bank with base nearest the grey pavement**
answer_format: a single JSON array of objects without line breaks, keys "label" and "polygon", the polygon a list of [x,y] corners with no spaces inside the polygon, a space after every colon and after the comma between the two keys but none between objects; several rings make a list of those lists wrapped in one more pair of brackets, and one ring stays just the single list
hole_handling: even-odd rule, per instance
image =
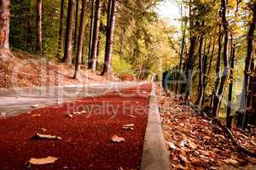
[{"label": "right-leaning trunk on left bank with base nearest the grey pavement", "polygon": [[79,76],[81,60],[82,60],[82,50],[83,50],[83,42],[84,42],[84,30],[85,30],[85,14],[86,14],[86,3],[87,0],[83,0],[82,9],[81,9],[81,19],[79,26],[79,43],[78,50],[76,55],[76,66],[73,78],[77,79]]}]

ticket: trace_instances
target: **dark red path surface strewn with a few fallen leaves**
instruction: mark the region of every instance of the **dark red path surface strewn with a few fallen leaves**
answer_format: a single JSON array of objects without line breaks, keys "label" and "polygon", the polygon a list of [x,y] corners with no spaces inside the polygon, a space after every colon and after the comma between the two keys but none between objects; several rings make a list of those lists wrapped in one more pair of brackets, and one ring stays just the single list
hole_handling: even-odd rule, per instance
[{"label": "dark red path surface strewn with a few fallen leaves", "polygon": [[[55,163],[31,169],[139,169],[151,84],[143,84],[139,91],[141,95],[137,88],[129,88],[122,91],[125,97],[113,92],[0,120],[0,168],[26,169],[24,164],[32,157],[55,156]],[[70,110],[72,105],[75,110]],[[66,116],[73,111],[86,112]],[[122,129],[129,123],[134,123],[134,131]],[[32,139],[43,133],[42,128],[62,139]],[[113,135],[125,142],[111,143]]]}]

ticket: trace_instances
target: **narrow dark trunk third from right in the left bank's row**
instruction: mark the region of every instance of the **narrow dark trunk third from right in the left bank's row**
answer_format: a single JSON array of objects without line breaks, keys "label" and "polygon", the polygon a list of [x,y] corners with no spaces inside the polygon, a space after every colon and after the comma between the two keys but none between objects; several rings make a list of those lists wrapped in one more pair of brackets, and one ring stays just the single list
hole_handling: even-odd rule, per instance
[{"label": "narrow dark trunk third from right in the left bank's row", "polygon": [[87,63],[87,69],[92,68],[92,37],[93,37],[93,26],[94,24],[94,0],[91,0],[90,4],[90,41],[89,41],[89,53],[88,53],[88,63]]}]

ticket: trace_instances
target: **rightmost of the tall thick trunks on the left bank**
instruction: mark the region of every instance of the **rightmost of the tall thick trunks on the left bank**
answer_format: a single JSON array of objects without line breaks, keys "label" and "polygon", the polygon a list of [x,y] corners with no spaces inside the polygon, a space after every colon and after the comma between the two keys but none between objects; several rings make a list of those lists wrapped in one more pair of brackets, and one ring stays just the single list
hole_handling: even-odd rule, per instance
[{"label": "rightmost of the tall thick trunks on the left bank", "polygon": [[[110,75],[111,62],[112,62],[112,53],[113,53],[113,31],[115,26],[115,14],[116,14],[116,0],[109,0],[108,3],[111,4],[111,13],[108,20],[108,35],[106,39],[106,51],[105,51],[105,59],[103,65],[103,75]],[[110,11],[108,11],[109,13]]]}]

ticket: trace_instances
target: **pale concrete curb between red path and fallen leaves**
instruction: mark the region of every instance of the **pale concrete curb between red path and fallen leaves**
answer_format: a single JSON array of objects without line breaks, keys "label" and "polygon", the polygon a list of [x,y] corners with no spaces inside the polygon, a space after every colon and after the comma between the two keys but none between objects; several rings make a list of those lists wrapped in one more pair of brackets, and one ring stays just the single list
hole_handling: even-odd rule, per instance
[{"label": "pale concrete curb between red path and fallen leaves", "polygon": [[169,170],[169,152],[166,149],[166,142],[160,121],[160,113],[155,99],[155,88],[153,85],[148,124],[143,146],[143,159],[141,170]]}]

